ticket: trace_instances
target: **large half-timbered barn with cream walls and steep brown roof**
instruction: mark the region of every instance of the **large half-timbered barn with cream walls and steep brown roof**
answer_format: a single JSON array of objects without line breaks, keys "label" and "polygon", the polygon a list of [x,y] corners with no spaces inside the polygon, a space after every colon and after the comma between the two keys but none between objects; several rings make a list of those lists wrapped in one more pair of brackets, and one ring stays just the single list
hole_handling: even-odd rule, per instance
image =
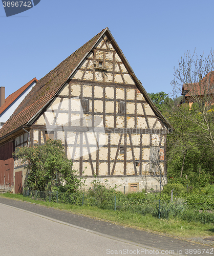
[{"label": "large half-timbered barn with cream walls and steep brown roof", "polygon": [[[88,185],[96,175],[126,191],[156,189],[160,171],[166,182],[170,130],[106,28],[36,83],[0,130],[0,154],[61,139]],[[0,161],[21,191],[26,170],[8,159]]]}]

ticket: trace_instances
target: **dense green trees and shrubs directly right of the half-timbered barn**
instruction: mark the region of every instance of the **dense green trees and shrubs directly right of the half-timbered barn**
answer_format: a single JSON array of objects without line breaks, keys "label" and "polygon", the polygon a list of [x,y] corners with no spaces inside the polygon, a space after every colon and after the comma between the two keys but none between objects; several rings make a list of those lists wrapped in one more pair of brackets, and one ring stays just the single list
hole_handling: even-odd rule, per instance
[{"label": "dense green trees and shrubs directly right of the half-timbered barn", "polygon": [[[209,182],[210,174],[214,173],[214,158],[212,151],[207,147],[208,139],[203,136],[200,125],[197,125],[197,122],[203,121],[198,103],[192,104],[189,108],[188,103],[179,105],[177,98],[169,99],[163,92],[150,95],[152,95],[151,98],[156,106],[174,127],[173,133],[167,135],[168,177],[177,177],[179,178],[178,182],[182,181],[183,184],[194,186],[197,186],[205,176]],[[159,96],[162,97],[159,98]],[[165,99],[163,99],[164,96]],[[212,107],[210,109],[212,110]],[[211,118],[212,111],[209,111],[208,115]],[[192,122],[192,119],[195,122]],[[186,176],[188,180],[186,180]]]}]

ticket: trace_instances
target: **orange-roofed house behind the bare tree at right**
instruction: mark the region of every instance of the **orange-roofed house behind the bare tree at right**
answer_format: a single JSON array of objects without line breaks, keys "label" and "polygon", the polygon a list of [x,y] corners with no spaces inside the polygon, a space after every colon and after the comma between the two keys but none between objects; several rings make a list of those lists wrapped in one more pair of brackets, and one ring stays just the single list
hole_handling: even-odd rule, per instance
[{"label": "orange-roofed house behind the bare tree at right", "polygon": [[214,71],[209,72],[199,82],[192,82],[183,84],[182,103],[189,103],[191,107],[192,103],[200,100],[206,104],[214,103]]}]

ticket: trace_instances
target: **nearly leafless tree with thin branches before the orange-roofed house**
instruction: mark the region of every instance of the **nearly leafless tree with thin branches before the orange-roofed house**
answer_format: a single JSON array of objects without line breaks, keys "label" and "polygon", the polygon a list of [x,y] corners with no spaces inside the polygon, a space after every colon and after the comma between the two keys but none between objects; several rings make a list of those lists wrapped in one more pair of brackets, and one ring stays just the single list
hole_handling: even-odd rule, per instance
[{"label": "nearly leafless tree with thin branches before the orange-roofed house", "polygon": [[192,125],[197,126],[200,143],[210,148],[214,153],[214,116],[213,116],[213,70],[214,55],[210,51],[207,57],[204,54],[186,52],[179,61],[179,67],[175,69],[172,85],[174,92],[183,92],[186,101],[194,102],[191,106],[191,115],[181,109],[175,108],[175,114]]}]

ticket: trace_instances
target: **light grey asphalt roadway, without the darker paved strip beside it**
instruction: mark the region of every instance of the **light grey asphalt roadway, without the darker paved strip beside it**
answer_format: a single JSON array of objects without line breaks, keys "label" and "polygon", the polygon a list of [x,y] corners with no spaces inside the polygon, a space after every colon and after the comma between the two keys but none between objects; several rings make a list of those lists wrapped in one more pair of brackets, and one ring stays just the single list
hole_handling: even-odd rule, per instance
[{"label": "light grey asphalt roadway, without the darker paved strip beside it", "polygon": [[143,248],[107,238],[4,204],[0,204],[0,227],[1,256],[157,255],[160,253],[160,251],[152,251],[152,248]]}]

